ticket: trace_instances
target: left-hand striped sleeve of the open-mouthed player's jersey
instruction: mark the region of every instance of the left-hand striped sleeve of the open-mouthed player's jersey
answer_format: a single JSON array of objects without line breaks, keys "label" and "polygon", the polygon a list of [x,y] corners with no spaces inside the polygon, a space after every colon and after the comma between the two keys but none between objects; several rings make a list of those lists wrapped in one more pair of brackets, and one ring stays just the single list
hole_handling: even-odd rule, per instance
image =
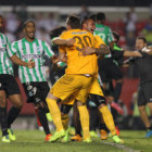
[{"label": "left-hand striped sleeve of the open-mouthed player's jersey", "polygon": [[16,42],[12,42],[8,45],[8,55],[11,58],[17,53]]}]

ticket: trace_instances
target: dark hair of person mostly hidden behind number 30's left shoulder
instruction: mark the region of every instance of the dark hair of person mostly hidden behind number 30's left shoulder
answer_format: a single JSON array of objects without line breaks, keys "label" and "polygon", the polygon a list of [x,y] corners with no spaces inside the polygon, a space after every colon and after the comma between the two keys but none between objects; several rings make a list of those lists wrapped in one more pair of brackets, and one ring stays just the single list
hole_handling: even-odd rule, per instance
[{"label": "dark hair of person mostly hidden behind number 30's left shoulder", "polygon": [[59,37],[63,30],[66,30],[64,26],[56,27],[50,31],[51,39],[54,37]]}]

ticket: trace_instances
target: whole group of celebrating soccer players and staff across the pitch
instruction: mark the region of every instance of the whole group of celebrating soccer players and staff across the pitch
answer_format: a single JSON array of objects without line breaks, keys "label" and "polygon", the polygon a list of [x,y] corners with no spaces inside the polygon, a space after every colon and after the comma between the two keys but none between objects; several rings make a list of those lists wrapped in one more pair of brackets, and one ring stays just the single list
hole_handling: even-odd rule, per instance
[{"label": "whole group of celebrating soccer players and staff across the pitch", "polygon": [[[117,46],[118,35],[113,34],[110,27],[104,25],[104,13],[86,16],[83,21],[75,15],[69,15],[66,20],[66,28],[59,27],[52,30],[52,33],[60,30],[52,38],[52,42],[59,46],[59,55],[55,55],[47,42],[35,37],[36,25],[34,21],[24,23],[25,37],[23,39],[10,43],[7,36],[2,34],[4,18],[0,16],[0,123],[3,142],[16,140],[11,124],[16,119],[23,106],[18,85],[13,76],[12,61],[20,65],[20,80],[27,96],[27,102],[34,103],[35,109],[37,109],[37,116],[45,130],[46,141],[54,142],[59,139],[62,142],[68,141],[68,112],[74,107],[76,136],[72,137],[72,140],[91,142],[89,125],[91,121],[89,123],[89,119],[94,115],[94,112],[91,113],[92,109],[90,109],[93,104],[98,113],[92,119],[99,121],[101,139],[107,139],[106,132],[109,130],[114,142],[124,143],[118,137],[114,123],[115,109],[118,109],[116,102],[122,90],[119,69],[119,66],[123,65],[122,59],[131,56],[125,64],[137,62],[139,67],[142,66],[139,69],[142,78],[139,110],[141,107],[140,112],[143,113],[145,101],[151,101],[149,91],[151,84],[149,83],[149,89],[145,86],[147,81],[152,80],[152,75],[147,77],[143,75],[147,71],[150,73],[151,67],[145,69],[144,66],[151,62],[152,50],[147,48],[144,38],[137,38],[137,51],[124,50]],[[65,74],[51,89],[45,77],[45,55],[52,61],[54,66],[67,65]],[[143,60],[145,65],[141,65]],[[104,93],[98,80],[99,76],[102,80],[104,93],[111,97],[109,102],[112,111],[106,105]],[[110,86],[113,79],[116,81],[116,86],[112,91],[111,88],[107,88],[107,84]],[[8,98],[12,102],[9,113],[7,113]],[[92,103],[90,103],[90,100]],[[59,102],[61,102],[61,109],[58,105]],[[118,111],[121,112],[119,109]],[[56,127],[53,135],[50,132],[46,116],[48,112],[50,112]],[[151,136],[152,127],[148,118],[145,122],[145,114],[141,118],[148,128],[149,136]]]}]

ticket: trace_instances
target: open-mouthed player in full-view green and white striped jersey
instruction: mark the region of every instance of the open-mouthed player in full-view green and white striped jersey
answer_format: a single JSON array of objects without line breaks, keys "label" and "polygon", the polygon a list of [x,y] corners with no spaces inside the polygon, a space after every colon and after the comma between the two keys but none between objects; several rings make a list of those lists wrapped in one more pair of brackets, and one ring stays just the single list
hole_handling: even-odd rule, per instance
[{"label": "open-mouthed player in full-view green and white striped jersey", "polygon": [[53,59],[54,53],[47,42],[35,38],[35,23],[27,21],[24,24],[25,38],[13,42],[9,53],[11,56],[16,54],[25,62],[28,60],[35,61],[36,66],[34,68],[20,66],[18,74],[27,96],[27,102],[33,102],[38,107],[38,117],[46,132],[46,141],[48,141],[51,134],[46,117],[48,111],[46,97],[50,89],[45,77],[43,56],[47,55]]}]

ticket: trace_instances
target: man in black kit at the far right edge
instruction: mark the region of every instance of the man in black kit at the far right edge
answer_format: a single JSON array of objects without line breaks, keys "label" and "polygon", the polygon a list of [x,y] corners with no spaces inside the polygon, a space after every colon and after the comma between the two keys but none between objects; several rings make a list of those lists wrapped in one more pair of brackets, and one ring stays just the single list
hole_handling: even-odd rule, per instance
[{"label": "man in black kit at the far right edge", "polygon": [[130,63],[135,63],[139,71],[140,84],[138,90],[138,107],[140,117],[147,127],[145,137],[152,136],[152,125],[145,112],[145,105],[150,107],[152,114],[152,48],[147,46],[144,37],[138,37],[136,49],[142,54],[142,58],[136,58]]}]

